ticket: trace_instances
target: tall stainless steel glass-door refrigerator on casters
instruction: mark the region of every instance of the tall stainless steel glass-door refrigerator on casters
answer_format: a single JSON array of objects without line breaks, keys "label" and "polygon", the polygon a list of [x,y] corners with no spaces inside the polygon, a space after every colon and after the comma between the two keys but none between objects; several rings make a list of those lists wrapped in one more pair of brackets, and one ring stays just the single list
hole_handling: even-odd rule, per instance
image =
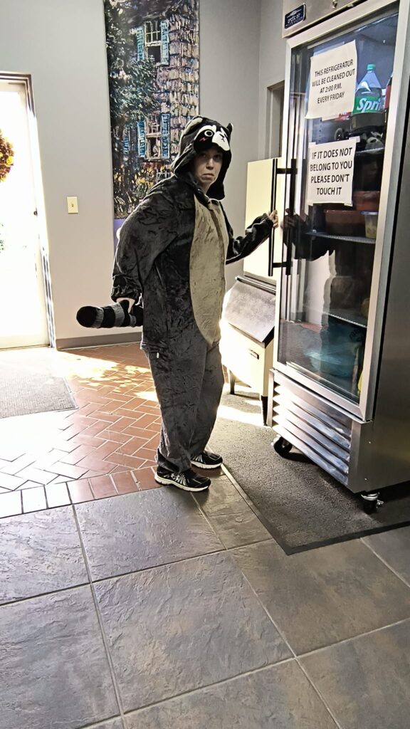
[{"label": "tall stainless steel glass-door refrigerator on casters", "polygon": [[284,28],[274,448],[371,511],[410,481],[409,0],[285,0]]}]

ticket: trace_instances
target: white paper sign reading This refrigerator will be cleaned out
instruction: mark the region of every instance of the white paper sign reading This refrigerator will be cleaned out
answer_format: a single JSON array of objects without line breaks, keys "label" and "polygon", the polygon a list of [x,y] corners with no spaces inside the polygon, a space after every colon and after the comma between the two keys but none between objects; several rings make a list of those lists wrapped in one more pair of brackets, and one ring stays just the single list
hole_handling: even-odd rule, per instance
[{"label": "white paper sign reading This refrigerator will be cleaned out", "polygon": [[307,119],[335,119],[352,112],[357,75],[356,42],[319,53],[310,59]]}]

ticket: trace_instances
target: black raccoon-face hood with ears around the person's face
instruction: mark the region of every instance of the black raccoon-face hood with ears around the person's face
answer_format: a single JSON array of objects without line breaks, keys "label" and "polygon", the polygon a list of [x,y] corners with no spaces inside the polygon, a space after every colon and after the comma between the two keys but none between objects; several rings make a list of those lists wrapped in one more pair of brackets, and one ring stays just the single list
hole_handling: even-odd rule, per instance
[{"label": "black raccoon-face hood with ears around the person's face", "polygon": [[232,125],[223,127],[219,122],[206,117],[194,117],[188,122],[179,141],[179,155],[172,165],[174,173],[179,176],[190,171],[190,163],[199,152],[216,144],[223,151],[223,163],[217,180],[206,193],[209,198],[222,200],[225,197],[223,181],[231,164],[231,131]]}]

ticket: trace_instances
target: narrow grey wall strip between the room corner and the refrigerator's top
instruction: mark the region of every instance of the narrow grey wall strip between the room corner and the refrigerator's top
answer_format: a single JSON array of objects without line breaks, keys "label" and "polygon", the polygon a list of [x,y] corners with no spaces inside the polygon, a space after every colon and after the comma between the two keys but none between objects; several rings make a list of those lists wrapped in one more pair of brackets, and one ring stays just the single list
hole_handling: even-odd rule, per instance
[{"label": "narrow grey wall strip between the room corner and the refrigerator's top", "polygon": [[[267,89],[285,79],[286,43],[282,39],[282,0],[261,0],[258,155],[265,157]],[[286,113],[285,109],[285,113]]]}]

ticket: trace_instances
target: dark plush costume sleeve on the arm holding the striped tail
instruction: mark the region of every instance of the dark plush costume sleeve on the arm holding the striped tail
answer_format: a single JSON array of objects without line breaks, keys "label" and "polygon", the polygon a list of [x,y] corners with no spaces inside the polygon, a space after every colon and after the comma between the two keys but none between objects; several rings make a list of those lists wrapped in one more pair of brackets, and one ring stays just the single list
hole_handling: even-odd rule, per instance
[{"label": "dark plush costume sleeve on the arm holding the striped tail", "polygon": [[177,210],[171,195],[153,190],[120,228],[112,273],[112,300],[139,300],[155,258],[178,234]]}]

